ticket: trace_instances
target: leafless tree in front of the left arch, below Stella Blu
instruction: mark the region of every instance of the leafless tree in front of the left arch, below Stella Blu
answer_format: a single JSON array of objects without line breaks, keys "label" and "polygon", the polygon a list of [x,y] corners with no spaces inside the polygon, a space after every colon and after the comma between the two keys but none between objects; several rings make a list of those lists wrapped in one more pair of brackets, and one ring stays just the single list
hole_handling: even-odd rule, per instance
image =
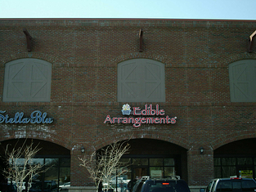
[{"label": "leafless tree in front of the left arch, below Stella Blu", "polygon": [[13,147],[9,151],[10,145],[7,145],[5,150],[5,158],[7,162],[7,169],[5,169],[4,175],[10,181],[13,181],[17,186],[17,191],[21,192],[24,181],[27,181],[27,190],[31,187],[34,176],[38,175],[43,171],[44,164],[34,163],[33,159],[35,154],[40,150],[38,145],[34,146],[33,141],[30,145],[26,145],[25,142],[20,146]]}]

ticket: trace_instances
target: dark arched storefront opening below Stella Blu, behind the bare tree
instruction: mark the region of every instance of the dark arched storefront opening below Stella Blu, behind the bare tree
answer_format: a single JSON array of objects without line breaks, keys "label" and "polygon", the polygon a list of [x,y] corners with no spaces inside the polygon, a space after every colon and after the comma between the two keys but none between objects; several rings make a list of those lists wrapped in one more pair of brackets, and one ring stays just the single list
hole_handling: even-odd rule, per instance
[{"label": "dark arched storefront opening below Stella Blu, behind the bare tree", "polygon": [[[32,159],[33,163],[40,163],[44,166],[42,168],[43,172],[36,174],[33,177],[29,191],[57,191],[61,185],[70,184],[70,150],[49,141],[13,139],[2,141],[0,145],[1,186],[10,184],[15,185],[13,181],[8,181],[3,174],[3,170],[7,168],[5,150],[8,149],[11,151],[13,147],[17,149],[24,143],[25,145],[30,145],[31,141],[33,141],[34,147],[38,145],[38,148],[40,149],[34,156],[34,159]],[[20,162],[24,161],[20,159]],[[20,167],[22,167],[22,163],[20,164]],[[25,191],[27,182],[27,179],[25,179],[22,191]]]}]

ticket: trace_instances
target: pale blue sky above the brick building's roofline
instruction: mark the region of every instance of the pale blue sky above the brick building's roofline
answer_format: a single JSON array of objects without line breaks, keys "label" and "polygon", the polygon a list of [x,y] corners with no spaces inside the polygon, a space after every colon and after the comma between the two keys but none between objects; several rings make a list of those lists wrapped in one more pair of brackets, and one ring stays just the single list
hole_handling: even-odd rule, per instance
[{"label": "pale blue sky above the brick building's roofline", "polygon": [[0,0],[0,18],[256,20],[256,0]]}]

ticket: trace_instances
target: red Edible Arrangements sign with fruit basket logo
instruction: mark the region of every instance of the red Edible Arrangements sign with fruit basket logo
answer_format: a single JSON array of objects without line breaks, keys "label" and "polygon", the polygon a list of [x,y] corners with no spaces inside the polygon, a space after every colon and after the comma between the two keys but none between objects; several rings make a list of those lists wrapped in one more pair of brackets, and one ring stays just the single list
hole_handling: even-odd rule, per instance
[{"label": "red Edible Arrangements sign with fruit basket logo", "polygon": [[[129,117],[115,117],[111,118],[108,114],[104,123],[132,123],[133,127],[140,127],[141,124],[174,124],[176,123],[177,117],[170,118],[168,115],[165,115],[164,109],[159,109],[159,105],[155,105],[155,109],[153,106],[145,105],[145,109],[141,109],[140,107],[133,107],[131,110],[130,105],[123,105],[123,109],[121,110],[123,115],[128,115]],[[139,117],[131,117],[139,116]],[[153,116],[153,117],[149,117]]]}]

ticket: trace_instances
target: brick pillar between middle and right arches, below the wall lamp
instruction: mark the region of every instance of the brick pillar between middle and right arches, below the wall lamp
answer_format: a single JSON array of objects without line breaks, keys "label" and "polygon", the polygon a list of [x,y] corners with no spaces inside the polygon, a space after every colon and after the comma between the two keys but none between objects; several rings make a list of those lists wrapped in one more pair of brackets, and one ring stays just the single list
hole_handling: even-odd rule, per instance
[{"label": "brick pillar between middle and right arches, below the wall lamp", "polygon": [[208,185],[214,176],[213,150],[204,150],[203,154],[200,154],[200,150],[188,150],[187,170],[188,185]]}]

